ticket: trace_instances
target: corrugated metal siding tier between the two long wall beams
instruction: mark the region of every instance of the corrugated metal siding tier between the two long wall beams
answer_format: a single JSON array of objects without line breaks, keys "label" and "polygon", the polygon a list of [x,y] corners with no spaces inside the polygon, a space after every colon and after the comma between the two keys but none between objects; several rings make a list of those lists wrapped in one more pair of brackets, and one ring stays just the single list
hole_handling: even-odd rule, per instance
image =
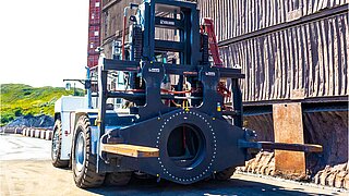
[{"label": "corrugated metal siding tier between the two long wall beams", "polygon": [[253,37],[220,48],[239,64],[244,101],[348,96],[348,14]]}]

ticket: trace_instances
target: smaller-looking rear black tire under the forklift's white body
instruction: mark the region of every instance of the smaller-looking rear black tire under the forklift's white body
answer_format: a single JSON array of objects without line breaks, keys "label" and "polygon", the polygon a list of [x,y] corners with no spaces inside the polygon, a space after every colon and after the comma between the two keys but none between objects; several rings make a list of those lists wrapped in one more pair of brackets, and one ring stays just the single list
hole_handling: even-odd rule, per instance
[{"label": "smaller-looking rear black tire under the forklift's white body", "polygon": [[[51,140],[51,161],[56,168],[68,168],[69,160],[61,160],[61,145],[62,145],[62,122],[57,119],[53,126],[53,135]],[[56,150],[55,150],[56,149]]]}]

